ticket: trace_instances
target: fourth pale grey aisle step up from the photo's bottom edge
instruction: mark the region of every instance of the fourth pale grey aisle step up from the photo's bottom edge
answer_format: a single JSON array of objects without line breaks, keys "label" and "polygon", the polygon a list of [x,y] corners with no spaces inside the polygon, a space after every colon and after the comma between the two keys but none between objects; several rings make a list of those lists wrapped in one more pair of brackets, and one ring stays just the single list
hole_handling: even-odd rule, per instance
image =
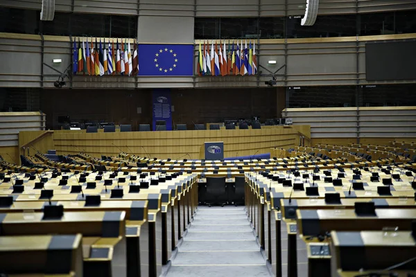
[{"label": "fourth pale grey aisle step up from the photo's bottom edge", "polygon": [[189,241],[191,240],[192,241],[204,241],[204,240],[209,240],[209,241],[252,240],[252,241],[255,241],[256,239],[254,238],[252,231],[238,232],[238,233],[232,233],[232,232],[229,232],[229,233],[212,233],[212,232],[191,233],[188,231],[187,235],[184,236],[184,241],[187,241],[187,240]]}]

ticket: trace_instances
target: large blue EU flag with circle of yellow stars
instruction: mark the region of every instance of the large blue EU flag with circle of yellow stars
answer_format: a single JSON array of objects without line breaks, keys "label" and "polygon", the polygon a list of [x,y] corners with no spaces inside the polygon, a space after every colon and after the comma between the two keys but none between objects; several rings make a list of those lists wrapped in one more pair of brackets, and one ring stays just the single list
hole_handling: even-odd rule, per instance
[{"label": "large blue EU flag with circle of yellow stars", "polygon": [[192,44],[139,44],[139,75],[192,76]]}]

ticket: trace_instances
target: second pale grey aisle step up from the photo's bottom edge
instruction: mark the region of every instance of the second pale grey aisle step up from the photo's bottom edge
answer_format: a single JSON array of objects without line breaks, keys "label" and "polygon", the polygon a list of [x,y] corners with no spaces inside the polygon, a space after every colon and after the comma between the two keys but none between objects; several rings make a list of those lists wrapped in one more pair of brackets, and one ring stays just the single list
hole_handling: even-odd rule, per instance
[{"label": "second pale grey aisle step up from the photo's bottom edge", "polygon": [[260,251],[177,252],[173,265],[266,265]]}]

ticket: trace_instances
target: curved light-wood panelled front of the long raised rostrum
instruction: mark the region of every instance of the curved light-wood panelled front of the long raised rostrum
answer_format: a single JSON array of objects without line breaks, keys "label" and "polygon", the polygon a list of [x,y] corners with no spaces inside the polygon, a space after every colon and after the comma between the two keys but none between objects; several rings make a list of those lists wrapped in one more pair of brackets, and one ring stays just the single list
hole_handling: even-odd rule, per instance
[{"label": "curved light-wood panelled front of the long raised rostrum", "polygon": [[162,159],[176,159],[190,154],[192,159],[198,159],[200,146],[207,141],[223,141],[225,157],[235,157],[237,153],[243,156],[254,154],[257,150],[259,153],[268,153],[272,147],[293,147],[296,136],[297,129],[277,126],[267,129],[97,134],[55,131],[53,141],[58,154],[76,154],[85,150],[93,156],[100,157],[101,154],[119,154],[118,148],[121,148],[141,157],[149,154]]}]

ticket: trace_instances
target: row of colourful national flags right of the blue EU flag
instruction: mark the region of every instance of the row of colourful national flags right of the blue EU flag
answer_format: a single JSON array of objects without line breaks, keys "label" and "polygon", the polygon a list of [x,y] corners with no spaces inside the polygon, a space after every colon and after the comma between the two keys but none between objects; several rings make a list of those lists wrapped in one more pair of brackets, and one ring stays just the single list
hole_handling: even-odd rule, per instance
[{"label": "row of colourful national flags right of the blue EU flag", "polygon": [[[232,45],[232,48],[231,48]],[[236,46],[234,48],[234,46]],[[204,46],[199,44],[198,55],[198,75],[212,75],[212,76],[225,76],[225,75],[255,75],[257,73],[257,55],[256,44],[251,42],[247,46],[247,40],[245,40],[245,46],[243,46],[243,40],[241,39],[241,46],[239,40],[236,45],[234,40],[232,44],[228,41],[228,51],[226,50],[225,41],[223,47],[218,47],[217,43],[211,42],[211,51],[209,50],[209,43]]]}]

